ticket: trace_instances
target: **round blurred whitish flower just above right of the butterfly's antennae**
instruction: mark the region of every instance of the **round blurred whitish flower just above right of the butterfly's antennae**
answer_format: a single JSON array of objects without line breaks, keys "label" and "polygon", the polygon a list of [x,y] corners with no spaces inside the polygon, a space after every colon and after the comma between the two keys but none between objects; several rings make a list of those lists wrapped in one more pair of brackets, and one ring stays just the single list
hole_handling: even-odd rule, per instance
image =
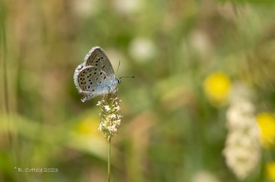
[{"label": "round blurred whitish flower just above right of the butterfly's antennae", "polygon": [[146,62],[156,55],[155,44],[146,38],[135,38],[129,47],[129,54],[134,60]]}]

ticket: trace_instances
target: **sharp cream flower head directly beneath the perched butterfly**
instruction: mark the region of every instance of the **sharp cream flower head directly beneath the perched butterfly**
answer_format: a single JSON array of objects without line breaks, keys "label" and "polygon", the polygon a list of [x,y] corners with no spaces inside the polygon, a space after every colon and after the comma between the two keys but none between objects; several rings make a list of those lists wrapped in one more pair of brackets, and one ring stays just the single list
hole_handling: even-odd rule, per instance
[{"label": "sharp cream flower head directly beneath the perched butterfly", "polygon": [[115,90],[105,94],[97,104],[101,108],[101,122],[98,129],[102,131],[107,139],[118,133],[118,127],[122,118],[120,115],[120,100],[116,96],[117,92],[118,90]]}]

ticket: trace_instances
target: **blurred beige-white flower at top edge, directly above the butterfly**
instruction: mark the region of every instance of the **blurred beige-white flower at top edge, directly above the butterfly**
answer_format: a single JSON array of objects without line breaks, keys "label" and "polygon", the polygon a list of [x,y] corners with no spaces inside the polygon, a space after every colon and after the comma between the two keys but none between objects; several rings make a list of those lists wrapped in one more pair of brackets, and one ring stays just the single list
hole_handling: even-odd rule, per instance
[{"label": "blurred beige-white flower at top edge, directly above the butterfly", "polygon": [[74,12],[82,18],[96,14],[99,5],[98,0],[73,0],[72,3]]}]

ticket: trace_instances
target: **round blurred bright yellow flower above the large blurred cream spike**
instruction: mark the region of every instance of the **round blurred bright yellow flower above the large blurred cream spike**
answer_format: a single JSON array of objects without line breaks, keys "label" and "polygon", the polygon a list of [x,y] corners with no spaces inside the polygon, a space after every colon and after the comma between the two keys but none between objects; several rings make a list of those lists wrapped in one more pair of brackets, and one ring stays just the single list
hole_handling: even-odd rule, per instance
[{"label": "round blurred bright yellow flower above the large blurred cream spike", "polygon": [[212,73],[204,80],[203,88],[210,101],[216,105],[223,105],[228,101],[231,82],[224,73]]}]

